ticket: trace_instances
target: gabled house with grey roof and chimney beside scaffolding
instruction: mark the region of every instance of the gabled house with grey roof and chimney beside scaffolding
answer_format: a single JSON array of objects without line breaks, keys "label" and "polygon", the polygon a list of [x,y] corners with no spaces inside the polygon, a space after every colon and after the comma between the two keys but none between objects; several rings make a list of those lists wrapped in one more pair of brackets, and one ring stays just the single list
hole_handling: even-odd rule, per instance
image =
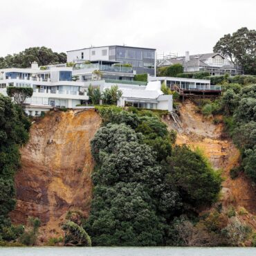
[{"label": "gabled house with grey roof and chimney beside scaffolding", "polygon": [[170,59],[157,60],[157,66],[170,66],[182,64],[184,72],[208,71],[210,75],[242,75],[244,71],[241,66],[234,65],[227,57],[220,53],[205,53],[190,55],[186,51],[185,56],[173,57]]}]

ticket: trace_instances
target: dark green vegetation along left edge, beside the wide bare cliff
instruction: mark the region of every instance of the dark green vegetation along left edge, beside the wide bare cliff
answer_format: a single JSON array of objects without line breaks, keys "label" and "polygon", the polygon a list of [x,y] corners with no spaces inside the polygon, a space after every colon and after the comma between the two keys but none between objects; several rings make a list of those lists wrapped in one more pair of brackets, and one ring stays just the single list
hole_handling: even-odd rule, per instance
[{"label": "dark green vegetation along left edge, beside the wide bare cliff", "polygon": [[15,208],[14,175],[19,146],[28,140],[30,122],[11,98],[0,94],[0,240],[17,238],[23,228],[11,226],[8,213]]}]

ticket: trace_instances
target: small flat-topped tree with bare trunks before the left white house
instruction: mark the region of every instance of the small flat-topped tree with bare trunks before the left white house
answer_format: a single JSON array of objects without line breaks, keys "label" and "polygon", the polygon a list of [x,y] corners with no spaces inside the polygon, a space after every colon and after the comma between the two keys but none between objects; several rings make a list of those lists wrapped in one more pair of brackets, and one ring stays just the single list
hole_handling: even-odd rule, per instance
[{"label": "small flat-topped tree with bare trunks before the left white house", "polygon": [[30,98],[33,95],[33,88],[8,86],[7,94],[13,97],[16,104],[22,105],[26,98]]}]

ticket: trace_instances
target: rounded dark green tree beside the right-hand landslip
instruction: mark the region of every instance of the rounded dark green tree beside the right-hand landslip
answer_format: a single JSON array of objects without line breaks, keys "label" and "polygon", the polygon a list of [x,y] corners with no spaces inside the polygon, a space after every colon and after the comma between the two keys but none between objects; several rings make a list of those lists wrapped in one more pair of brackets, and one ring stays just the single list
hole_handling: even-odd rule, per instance
[{"label": "rounded dark green tree beside the right-hand landslip", "polygon": [[194,208],[216,201],[221,176],[199,152],[192,152],[186,145],[176,146],[168,163],[168,179],[176,185],[183,203]]}]

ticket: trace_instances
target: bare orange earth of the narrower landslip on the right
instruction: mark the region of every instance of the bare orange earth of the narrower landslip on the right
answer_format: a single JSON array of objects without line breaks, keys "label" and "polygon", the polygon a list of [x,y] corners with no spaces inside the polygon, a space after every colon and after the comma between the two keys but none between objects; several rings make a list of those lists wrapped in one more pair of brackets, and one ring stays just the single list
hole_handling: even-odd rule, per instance
[{"label": "bare orange earth of the narrower landslip on the right", "polygon": [[[223,125],[213,125],[195,111],[192,102],[185,102],[181,109],[183,130],[178,132],[176,143],[199,147],[203,150],[215,169],[223,170],[223,189],[221,202],[224,207],[234,205],[237,210],[244,207],[250,214],[241,217],[256,228],[253,214],[256,214],[256,191],[244,175],[230,179],[229,171],[239,164],[239,151],[228,138],[223,138]],[[170,129],[175,129],[172,120],[164,120]]]}]

